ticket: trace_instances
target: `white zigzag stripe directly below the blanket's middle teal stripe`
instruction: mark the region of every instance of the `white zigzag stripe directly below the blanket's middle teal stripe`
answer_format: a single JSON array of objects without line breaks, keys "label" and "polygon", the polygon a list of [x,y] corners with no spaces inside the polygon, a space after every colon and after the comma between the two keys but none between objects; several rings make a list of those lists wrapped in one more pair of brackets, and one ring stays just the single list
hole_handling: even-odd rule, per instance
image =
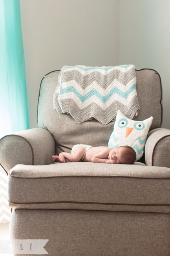
[{"label": "white zigzag stripe directly below the blanket's middle teal stripe", "polygon": [[[130,95],[128,96],[128,98],[125,100],[124,98],[122,98],[119,95],[116,95],[116,100],[119,102],[123,102],[124,105],[126,105],[126,102],[129,102],[129,99],[132,99],[132,97],[135,96],[135,93],[130,93]],[[75,95],[75,93],[64,93],[61,94],[58,97],[58,100],[66,100],[68,98],[72,98],[76,104],[79,106],[80,109],[86,108],[90,103],[91,103],[91,97],[88,98],[88,100],[86,100],[85,102],[81,102],[81,100],[77,97],[77,95]],[[113,103],[113,97],[111,97],[106,103],[102,102],[97,96],[93,96],[93,101],[98,104],[102,109],[107,109],[108,106],[110,106],[110,104]],[[63,107],[63,106],[62,106]]]}]

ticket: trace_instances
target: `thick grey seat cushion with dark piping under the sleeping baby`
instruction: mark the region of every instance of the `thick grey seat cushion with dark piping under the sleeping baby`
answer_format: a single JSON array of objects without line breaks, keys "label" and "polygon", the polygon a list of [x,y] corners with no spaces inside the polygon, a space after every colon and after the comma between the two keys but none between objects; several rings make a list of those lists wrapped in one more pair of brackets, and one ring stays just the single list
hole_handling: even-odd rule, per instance
[{"label": "thick grey seat cushion with dark piping under the sleeping baby", "polygon": [[16,165],[8,175],[11,208],[170,211],[170,169],[105,163]]}]

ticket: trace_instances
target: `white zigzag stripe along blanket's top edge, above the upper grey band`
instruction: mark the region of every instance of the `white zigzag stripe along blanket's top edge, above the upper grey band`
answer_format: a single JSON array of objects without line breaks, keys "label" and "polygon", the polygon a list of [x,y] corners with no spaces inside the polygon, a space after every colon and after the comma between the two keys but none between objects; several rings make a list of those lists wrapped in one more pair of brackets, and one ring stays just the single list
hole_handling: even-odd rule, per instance
[{"label": "white zigzag stripe along blanket's top edge, above the upper grey band", "polygon": [[[87,68],[85,66],[81,66],[79,65],[79,67],[83,67],[83,68]],[[71,68],[68,68],[68,69],[64,69],[64,73],[68,72],[68,71],[72,71],[72,70],[78,70],[81,74],[90,74],[94,71],[98,71],[100,72],[101,74],[109,74],[110,72],[112,72],[113,70],[120,70],[121,72],[127,72],[129,71],[130,69],[132,69],[132,67],[134,68],[134,65],[131,65],[129,66],[127,69],[124,68],[124,67],[120,67],[120,66],[117,66],[117,67],[112,67],[111,69],[108,69],[108,70],[105,70],[105,69],[90,69],[90,70],[82,70],[82,69],[79,69],[78,67],[71,67]],[[91,67],[89,67],[91,68]],[[97,67],[98,68],[98,67]],[[106,68],[105,66],[102,66],[102,68]],[[108,67],[107,67],[108,68]]]}]

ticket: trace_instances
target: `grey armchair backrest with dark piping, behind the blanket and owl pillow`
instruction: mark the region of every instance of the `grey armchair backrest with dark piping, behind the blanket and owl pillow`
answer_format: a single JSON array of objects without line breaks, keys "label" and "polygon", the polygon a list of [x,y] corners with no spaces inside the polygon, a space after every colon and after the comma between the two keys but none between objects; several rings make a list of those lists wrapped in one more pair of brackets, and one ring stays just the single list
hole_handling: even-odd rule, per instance
[{"label": "grey armchair backrest with dark piping, behind the blanket and owl pillow", "polygon": [[[78,124],[71,115],[53,109],[53,93],[59,73],[60,70],[50,72],[42,79],[37,114],[38,126],[47,129],[56,141],[56,154],[70,152],[75,144],[108,146],[114,122],[104,125],[92,119]],[[160,128],[163,121],[161,78],[153,69],[136,70],[136,76],[140,110],[134,120],[142,121],[153,116],[150,130]]]}]

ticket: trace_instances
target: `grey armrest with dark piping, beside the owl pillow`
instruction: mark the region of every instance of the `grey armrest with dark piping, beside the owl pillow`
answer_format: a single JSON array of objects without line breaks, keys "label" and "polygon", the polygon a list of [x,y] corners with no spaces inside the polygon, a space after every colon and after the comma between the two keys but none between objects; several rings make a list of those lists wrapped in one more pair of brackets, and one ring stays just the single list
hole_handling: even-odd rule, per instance
[{"label": "grey armrest with dark piping, beside the owl pillow", "polygon": [[158,128],[148,133],[145,144],[146,165],[170,168],[170,130]]}]

